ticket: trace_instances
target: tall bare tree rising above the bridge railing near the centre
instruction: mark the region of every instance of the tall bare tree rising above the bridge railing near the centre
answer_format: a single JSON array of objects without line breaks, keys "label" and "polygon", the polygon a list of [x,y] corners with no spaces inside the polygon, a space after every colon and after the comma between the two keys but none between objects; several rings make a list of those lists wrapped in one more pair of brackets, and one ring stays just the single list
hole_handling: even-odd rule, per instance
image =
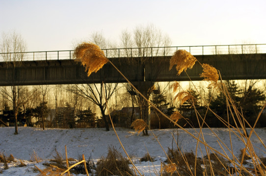
[{"label": "tall bare tree rising above the bridge railing near the centre", "polygon": [[[137,82],[134,86],[147,98],[152,92],[152,88],[156,81],[158,74],[161,71],[161,63],[166,58],[157,59],[156,57],[161,54],[159,46],[169,46],[171,44],[170,38],[163,34],[160,29],[156,28],[153,24],[147,26],[137,26],[133,30],[133,34],[127,30],[122,32],[121,45],[124,48],[137,47],[138,52],[132,52],[132,49],[126,49],[126,54],[128,56],[127,68],[124,74],[129,78],[130,74],[135,73],[137,75]],[[152,48],[153,47],[153,48]],[[163,54],[167,52],[167,48],[164,48]],[[166,55],[166,54],[165,54]],[[124,58],[123,58],[124,59]],[[152,62],[150,62],[152,60]],[[123,61],[121,61],[123,62]],[[125,64],[125,63],[124,63]],[[147,67],[152,67],[149,72],[147,72]],[[150,80],[146,79],[146,75],[149,75]],[[128,91],[132,91],[131,86],[128,86]],[[137,104],[140,109],[141,118],[143,118],[148,126],[150,127],[150,115],[149,115],[149,105],[148,102],[144,101],[139,95]],[[132,96],[134,98],[134,96]],[[144,132],[144,134],[147,133]]]}]

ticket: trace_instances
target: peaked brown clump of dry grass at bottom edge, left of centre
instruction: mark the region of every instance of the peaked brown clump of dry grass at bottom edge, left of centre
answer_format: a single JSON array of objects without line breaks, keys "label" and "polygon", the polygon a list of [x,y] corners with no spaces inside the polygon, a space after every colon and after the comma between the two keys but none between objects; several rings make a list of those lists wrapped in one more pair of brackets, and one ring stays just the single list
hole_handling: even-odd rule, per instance
[{"label": "peaked brown clump of dry grass at bottom edge, left of centre", "polygon": [[130,161],[125,159],[115,148],[108,148],[106,158],[102,157],[96,164],[97,176],[132,176]]}]

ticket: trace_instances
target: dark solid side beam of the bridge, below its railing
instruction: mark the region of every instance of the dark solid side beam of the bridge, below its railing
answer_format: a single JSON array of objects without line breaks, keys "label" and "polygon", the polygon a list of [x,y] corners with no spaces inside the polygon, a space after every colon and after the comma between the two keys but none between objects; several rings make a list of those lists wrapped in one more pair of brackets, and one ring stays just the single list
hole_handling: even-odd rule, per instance
[{"label": "dark solid side beam of the bridge, below its railing", "polygon": [[[198,55],[197,60],[210,64],[220,71],[223,80],[266,79],[266,54]],[[169,70],[171,57],[145,58],[144,64],[137,58],[112,58],[111,62],[133,83],[189,81],[186,73],[177,76]],[[74,60],[25,61],[20,66],[0,63],[0,86],[11,85],[59,85],[85,83],[124,83],[126,80],[107,63],[97,73],[87,77],[84,67]],[[196,63],[187,69],[191,80],[202,80],[202,67]]]}]

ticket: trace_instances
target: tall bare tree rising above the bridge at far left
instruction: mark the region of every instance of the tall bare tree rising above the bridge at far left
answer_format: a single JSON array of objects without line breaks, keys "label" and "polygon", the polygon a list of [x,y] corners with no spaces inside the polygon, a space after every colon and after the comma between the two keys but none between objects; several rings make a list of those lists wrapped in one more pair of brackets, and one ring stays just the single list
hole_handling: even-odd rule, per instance
[{"label": "tall bare tree rising above the bridge at far left", "polygon": [[[12,75],[10,76],[11,83],[11,94],[7,96],[11,99],[13,104],[13,111],[15,116],[15,134],[18,134],[18,111],[20,105],[20,94],[22,86],[17,86],[15,77],[16,77],[16,66],[21,65],[21,61],[24,58],[24,52],[26,50],[26,43],[22,39],[22,36],[13,31],[13,33],[2,33],[2,39],[0,44],[1,55],[6,65],[13,70]],[[7,92],[4,92],[7,93]]]}]

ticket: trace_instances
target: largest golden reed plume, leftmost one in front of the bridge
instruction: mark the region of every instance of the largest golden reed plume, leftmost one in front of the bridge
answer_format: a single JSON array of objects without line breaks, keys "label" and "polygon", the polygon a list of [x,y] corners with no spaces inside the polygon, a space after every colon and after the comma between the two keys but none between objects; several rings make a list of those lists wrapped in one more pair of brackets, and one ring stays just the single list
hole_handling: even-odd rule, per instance
[{"label": "largest golden reed plume, leftmost one in front of the bridge", "polygon": [[88,76],[92,72],[96,73],[109,61],[100,47],[93,43],[83,42],[79,44],[73,55],[77,61],[80,61],[86,67]]}]

